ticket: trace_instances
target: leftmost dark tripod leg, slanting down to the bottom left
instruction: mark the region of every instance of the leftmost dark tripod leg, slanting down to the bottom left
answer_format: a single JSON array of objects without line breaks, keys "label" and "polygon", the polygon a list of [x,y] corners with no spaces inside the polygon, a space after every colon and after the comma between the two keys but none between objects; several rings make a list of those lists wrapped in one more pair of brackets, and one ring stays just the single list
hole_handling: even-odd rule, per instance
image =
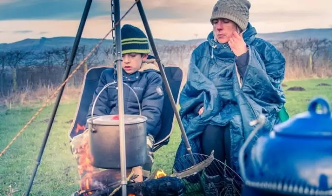
[{"label": "leftmost dark tripod leg, slanting down to the bottom left", "polygon": [[[85,25],[85,22],[86,22],[86,19],[87,19],[87,15],[90,11],[91,3],[92,3],[92,0],[86,0],[86,4],[85,4],[85,7],[84,7],[84,11],[83,11],[82,19],[81,19],[81,22],[80,22],[80,26],[79,26],[77,34],[76,34],[76,38],[75,38],[75,41],[74,41],[74,44],[73,44],[73,48],[71,50],[71,54],[70,54],[70,57],[69,57],[68,64],[66,66],[65,73],[63,75],[62,82],[65,81],[68,78],[70,69],[73,66],[73,62],[74,62],[74,59],[75,59],[75,56],[76,56],[77,48],[80,44],[80,40],[81,40],[81,37],[82,37],[82,33],[83,33],[84,25]],[[31,187],[32,187],[33,181],[35,179],[35,176],[36,176],[36,173],[37,173],[37,170],[38,170],[38,166],[41,163],[42,154],[44,152],[44,149],[45,149],[45,146],[46,146],[46,143],[47,143],[47,139],[48,139],[49,133],[52,129],[54,118],[55,118],[55,115],[56,115],[58,107],[59,107],[59,103],[60,103],[60,100],[61,100],[61,97],[62,97],[64,87],[65,87],[65,85],[62,86],[62,88],[61,88],[61,90],[60,90],[60,92],[57,96],[57,99],[56,99],[56,102],[55,102],[55,105],[54,105],[54,108],[53,108],[53,111],[52,111],[52,115],[51,115],[50,121],[48,123],[44,139],[42,141],[42,147],[41,147],[41,150],[40,150],[38,158],[37,158],[37,163],[36,163],[36,166],[35,166],[34,171],[32,173],[32,176],[30,178],[28,189],[26,190],[24,196],[29,196],[29,194],[30,194]]]}]

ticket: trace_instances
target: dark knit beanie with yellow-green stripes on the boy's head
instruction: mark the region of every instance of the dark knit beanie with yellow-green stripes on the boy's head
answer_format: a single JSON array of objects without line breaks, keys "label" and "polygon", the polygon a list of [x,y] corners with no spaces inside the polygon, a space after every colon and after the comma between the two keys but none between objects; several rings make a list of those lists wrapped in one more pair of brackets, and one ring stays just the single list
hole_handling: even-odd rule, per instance
[{"label": "dark knit beanie with yellow-green stripes on the boy's head", "polygon": [[141,53],[149,54],[149,43],[144,32],[130,24],[121,28],[122,54]]}]

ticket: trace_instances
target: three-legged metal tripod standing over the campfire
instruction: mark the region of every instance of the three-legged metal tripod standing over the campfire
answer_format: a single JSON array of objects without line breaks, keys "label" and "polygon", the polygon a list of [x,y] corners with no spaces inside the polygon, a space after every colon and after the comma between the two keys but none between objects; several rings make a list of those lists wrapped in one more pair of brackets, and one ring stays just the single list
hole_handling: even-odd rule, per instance
[{"label": "three-legged metal tripod standing over the campfire", "polygon": [[[179,124],[180,130],[181,130],[181,133],[182,133],[182,136],[183,136],[183,140],[184,140],[185,145],[187,147],[187,151],[189,152],[189,155],[192,159],[191,160],[192,163],[196,164],[196,161],[195,161],[194,156],[192,154],[191,147],[190,147],[190,144],[189,144],[189,141],[188,141],[188,138],[187,138],[187,134],[185,132],[185,129],[183,127],[183,124],[182,124],[182,121],[181,121],[181,118],[180,118],[180,114],[177,111],[176,103],[175,103],[175,100],[173,99],[173,95],[172,95],[171,89],[169,87],[165,71],[164,71],[163,66],[161,64],[161,60],[159,58],[157,47],[156,47],[156,44],[154,43],[154,39],[153,39],[151,30],[150,30],[150,27],[149,27],[149,24],[147,22],[147,18],[145,16],[145,11],[144,11],[142,2],[141,2],[141,0],[135,0],[135,1],[136,1],[137,8],[139,10],[139,13],[140,13],[142,22],[143,22],[144,27],[145,27],[145,31],[146,31],[147,38],[148,38],[148,40],[150,42],[150,45],[151,45],[151,48],[152,48],[152,52],[154,54],[154,57],[156,59],[158,67],[160,69],[162,79],[163,79],[163,83],[166,87],[166,92],[167,92],[167,95],[168,95],[169,100],[171,102],[172,108],[174,110],[176,120]],[[78,28],[78,31],[77,31],[77,34],[76,34],[76,37],[75,37],[73,48],[71,50],[70,58],[69,58],[67,66],[66,66],[65,73],[63,75],[63,79],[62,79],[63,82],[68,78],[70,69],[73,66],[73,62],[74,62],[74,59],[75,59],[75,56],[76,56],[76,52],[77,52],[81,37],[82,37],[83,29],[84,29],[85,22],[86,22],[86,19],[87,19],[87,16],[88,16],[88,13],[89,13],[89,10],[90,10],[90,7],[91,7],[91,3],[92,3],[92,0],[86,0],[86,4],[85,4],[85,7],[84,7],[81,22],[80,22],[80,25],[79,25],[79,28]],[[113,6],[113,8],[114,8],[114,10],[113,10],[114,13],[112,13],[112,14],[114,14],[114,22],[115,22],[115,46],[116,46],[115,56],[116,56],[116,58],[114,59],[114,61],[117,64],[117,67],[122,67],[120,0],[111,0],[111,6]],[[112,20],[112,22],[113,22],[113,20]],[[125,124],[124,124],[124,101],[123,101],[124,100],[123,99],[124,95],[123,95],[122,68],[117,68],[117,75],[118,75],[118,97],[119,97],[118,102],[119,102],[119,120],[120,120],[121,186],[122,186],[122,195],[126,196],[127,195],[127,193],[126,193],[127,181],[126,181]],[[44,149],[45,149],[45,146],[46,146],[46,143],[47,143],[47,139],[48,139],[49,133],[51,131],[51,128],[52,128],[52,125],[53,125],[53,122],[54,122],[54,118],[55,118],[55,115],[57,113],[57,110],[58,110],[58,107],[59,107],[59,104],[60,104],[60,100],[61,100],[61,97],[62,97],[64,87],[65,86],[62,86],[62,88],[61,88],[61,90],[60,90],[60,92],[57,96],[57,99],[55,101],[55,105],[54,105],[54,108],[53,108],[53,111],[52,111],[52,114],[51,114],[51,118],[50,118],[50,121],[48,123],[47,129],[46,129],[43,141],[42,141],[42,147],[40,149],[40,152],[39,152],[39,155],[38,155],[38,158],[37,158],[37,163],[36,163],[36,166],[34,168],[33,174],[30,178],[28,189],[24,194],[25,196],[29,196],[29,194],[30,194],[32,184],[33,184],[33,181],[35,179],[38,167],[41,163],[42,154],[44,152]]]}]

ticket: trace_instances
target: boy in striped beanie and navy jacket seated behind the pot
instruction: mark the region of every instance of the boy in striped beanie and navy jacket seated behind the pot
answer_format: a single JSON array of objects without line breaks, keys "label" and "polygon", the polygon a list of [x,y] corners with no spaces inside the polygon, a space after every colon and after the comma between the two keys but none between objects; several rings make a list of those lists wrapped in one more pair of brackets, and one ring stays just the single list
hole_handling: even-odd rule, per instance
[{"label": "boy in striped beanie and navy jacket seated behind the pot", "polygon": [[[147,162],[143,166],[143,180],[150,175],[153,165],[154,138],[161,127],[161,112],[164,104],[163,80],[154,59],[147,60],[150,53],[147,37],[139,28],[125,24],[121,29],[123,55],[123,82],[130,86],[138,96],[142,115],[147,117]],[[117,67],[119,68],[119,67]],[[93,102],[100,90],[108,83],[117,81],[113,68],[101,74],[99,85],[94,93],[87,118],[91,117]],[[94,116],[119,114],[117,84],[106,88],[98,98]],[[125,114],[139,114],[137,99],[129,87],[124,85]],[[142,178],[141,178],[142,180]]]}]

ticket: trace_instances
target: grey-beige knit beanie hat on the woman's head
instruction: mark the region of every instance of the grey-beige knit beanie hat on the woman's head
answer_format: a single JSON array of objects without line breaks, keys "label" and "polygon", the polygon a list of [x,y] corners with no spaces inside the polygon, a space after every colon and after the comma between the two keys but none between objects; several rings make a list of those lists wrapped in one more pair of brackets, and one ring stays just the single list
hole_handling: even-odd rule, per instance
[{"label": "grey-beige knit beanie hat on the woman's head", "polygon": [[244,31],[249,22],[250,6],[248,0],[218,0],[213,7],[210,22],[214,19],[228,19]]}]

